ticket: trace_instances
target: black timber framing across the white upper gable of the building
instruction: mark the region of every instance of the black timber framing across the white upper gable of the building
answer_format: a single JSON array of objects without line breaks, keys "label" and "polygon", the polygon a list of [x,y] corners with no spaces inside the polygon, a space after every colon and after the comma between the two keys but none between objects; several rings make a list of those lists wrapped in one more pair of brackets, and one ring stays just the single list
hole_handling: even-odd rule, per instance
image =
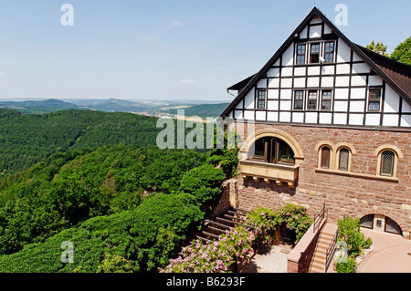
[{"label": "black timber framing across the white upper gable of the building", "polygon": [[[313,23],[311,24],[311,20],[315,17],[319,16],[321,18],[321,23]],[[321,26],[321,36],[320,37],[315,37],[315,38],[310,38],[311,36],[311,28],[315,26]],[[331,29],[331,32],[324,34],[324,27],[328,26]],[[300,38],[300,34],[302,33],[302,30],[304,27],[307,27],[307,38]],[[317,29],[317,31],[319,31]],[[297,36],[298,35],[298,36]],[[311,43],[320,43],[320,56],[324,56],[324,51],[325,51],[325,43],[326,42],[334,42],[334,53],[333,53],[333,62],[320,62],[316,64],[310,64],[310,52],[311,52]],[[345,62],[339,62],[338,61],[338,55],[339,55],[339,47],[340,46],[340,41],[345,43],[347,47],[350,49],[350,58],[348,60],[345,60]],[[297,64],[296,63],[296,56],[297,56],[297,46],[305,44],[305,64]],[[293,61],[290,65],[283,66],[283,54],[286,52],[286,50],[292,46],[292,56],[293,56]],[[354,60],[354,54],[359,57],[359,59]],[[276,63],[279,63],[277,66]],[[349,65],[350,72],[348,73],[343,73],[343,74],[337,74],[337,68],[339,65]],[[370,71],[367,73],[356,73],[353,70],[354,65],[360,65],[364,64],[370,68]],[[269,69],[274,68],[278,69],[278,76],[277,77],[268,77],[267,73],[269,72]],[[287,76],[283,76],[283,69],[284,68],[290,68],[290,74],[287,74]],[[297,68],[303,68],[305,74],[299,74],[298,76],[295,74]],[[318,74],[313,74],[309,75],[309,71],[312,68],[319,68],[320,71]],[[331,68],[332,73],[325,72],[325,69]],[[370,77],[371,76],[377,76],[382,79],[382,85],[378,86],[370,86]],[[321,80],[323,80],[324,77],[329,77],[331,78],[331,83],[327,86],[323,86],[321,84]],[[305,78],[304,79],[304,86],[300,87],[300,84],[296,84],[296,79],[300,78]],[[316,87],[309,87],[308,82],[309,78],[312,79],[318,79],[318,86]],[[337,86],[337,78],[348,78],[348,84],[347,86]],[[353,84],[353,78],[363,78],[364,83],[362,85],[355,85]],[[276,88],[270,88],[269,83],[275,79],[278,79],[279,86]],[[244,85],[247,82],[247,85]],[[242,121],[246,121],[248,119],[245,118],[245,114],[248,111],[253,111],[251,114],[254,116],[254,120],[256,122],[264,122],[264,123],[288,123],[288,124],[299,124],[299,125],[325,125],[325,126],[331,126],[331,127],[359,127],[359,126],[364,126],[364,127],[369,127],[369,128],[384,128],[386,129],[387,126],[384,126],[384,117],[389,116],[389,115],[397,115],[398,116],[398,121],[396,126],[388,126],[391,128],[400,128],[401,126],[401,118],[402,116],[411,116],[411,112],[402,112],[403,109],[403,102],[407,102],[411,106],[411,98],[406,94],[406,92],[402,89],[399,88],[395,82],[391,79],[388,78],[387,75],[383,72],[381,68],[376,66],[374,62],[371,60],[370,57],[367,57],[367,55],[364,53],[363,49],[361,47],[353,44],[351,41],[349,41],[345,36],[342,35],[342,33],[332,25],[332,23],[321,14],[321,12],[317,8],[313,8],[311,13],[306,16],[306,18],[302,21],[300,26],[296,28],[296,30],[291,34],[291,36],[287,39],[287,41],[279,48],[279,50],[276,52],[276,54],[270,58],[269,62],[261,68],[261,70],[254,75],[253,77],[249,77],[244,81],[241,81],[237,84],[241,84],[241,88],[238,88],[238,95],[237,98],[233,100],[233,102],[223,111],[221,114],[221,117],[226,118],[227,115],[230,112],[233,112],[233,117],[235,120],[238,118],[238,113],[242,112]],[[264,83],[265,88],[260,88],[258,87],[258,82]],[[287,88],[283,88],[283,84],[287,83]],[[237,85],[236,84],[236,85]],[[235,88],[235,86],[232,86],[231,89]],[[399,111],[396,112],[385,112],[384,104],[385,104],[385,85],[390,86],[393,88],[396,94],[399,96]],[[335,90],[336,89],[348,89],[348,97],[347,99],[335,99],[336,94]],[[362,97],[355,97],[352,94],[353,89],[363,89],[364,88],[364,96]],[[382,88],[381,90],[381,100],[380,100],[380,110],[379,111],[369,111],[368,110],[368,99],[369,99],[369,89],[370,88]],[[229,88],[230,89],[230,88]],[[245,97],[248,95],[248,93],[254,89],[254,108],[253,109],[247,109],[246,104],[245,104]],[[259,89],[264,89],[266,91],[266,99],[265,99],[265,120],[261,120],[261,118],[258,119],[258,111],[261,111],[261,109],[258,109],[258,90]],[[270,94],[270,92],[274,92],[273,90],[278,91],[278,95],[276,95],[274,98],[272,97],[273,95]],[[284,90],[290,90],[291,96],[284,96],[283,93],[285,92]],[[296,90],[302,90],[303,93],[303,109],[294,109],[294,92]],[[308,101],[308,91],[309,90],[317,90],[317,109],[316,110],[307,110],[307,101]],[[331,99],[331,110],[321,110],[321,97],[322,97],[322,90],[331,90],[332,91],[332,99]],[[290,93],[289,92],[289,93]],[[277,102],[277,108],[272,109],[270,105],[273,105],[270,103],[270,101]],[[286,101],[286,102],[281,102],[281,101]],[[346,102],[346,109],[340,109],[335,107],[335,102],[340,101],[340,102]],[[353,112],[351,110],[352,102],[353,101],[362,101],[364,102],[364,111],[356,110]],[[242,102],[242,106],[240,108],[236,109],[238,104]],[[342,104],[342,103],[340,103]],[[317,115],[317,123],[315,122],[307,122],[307,113],[316,113]],[[277,114],[277,119],[269,119],[269,113],[274,113]],[[302,114],[302,115],[301,115]],[[327,114],[327,120],[331,120],[327,122],[326,124],[322,124],[321,122],[321,117],[325,117]],[[346,123],[336,122],[335,119],[335,114],[345,114],[346,117]],[[355,123],[353,124],[350,122],[350,119],[353,119],[353,117],[358,114],[362,115],[362,122],[360,123]],[[367,116],[368,114],[378,114],[379,115],[379,126],[377,125],[367,125]],[[297,119],[297,116],[299,116],[299,119]],[[302,116],[302,118],[301,118]],[[331,118],[330,118],[331,117]],[[359,116],[358,116],[359,117]],[[272,120],[272,121],[269,121]],[[406,128],[403,128],[403,130],[406,130]]]}]

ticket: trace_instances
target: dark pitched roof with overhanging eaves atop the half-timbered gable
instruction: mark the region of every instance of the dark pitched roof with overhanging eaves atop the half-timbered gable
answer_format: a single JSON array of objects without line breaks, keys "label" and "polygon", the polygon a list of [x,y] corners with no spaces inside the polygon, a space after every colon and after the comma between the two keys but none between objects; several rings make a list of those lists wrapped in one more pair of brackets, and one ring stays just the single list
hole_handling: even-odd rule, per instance
[{"label": "dark pitched roof with overhanging eaves atop the half-timbered gable", "polygon": [[[397,76],[397,78],[394,78],[395,72],[391,73],[389,72],[390,68],[399,68],[399,65],[393,65],[392,63],[388,64],[388,62],[384,62],[380,59],[380,57],[375,57],[373,54],[368,54],[366,51],[364,51],[364,47],[360,47],[357,46],[355,44],[353,44],[353,42],[351,42],[346,36],[344,36],[342,34],[342,32],[332,24],[332,22],[330,20],[328,20],[328,18],[326,16],[324,16],[321,11],[317,8],[314,7],[312,8],[310,14],[308,16],[306,16],[304,18],[304,20],[300,23],[300,26],[298,26],[290,35],[290,37],[284,42],[284,44],[282,44],[281,47],[279,47],[279,50],[274,54],[274,56],[272,56],[269,61],[266,63],[266,65],[264,65],[263,68],[261,68],[257,74],[255,74],[252,77],[249,77],[247,79],[244,79],[242,81],[240,81],[239,83],[237,83],[236,85],[233,85],[232,87],[228,88],[228,89],[238,89],[240,88],[239,85],[244,85],[244,83],[247,82],[247,85],[241,89],[241,91],[239,91],[237,97],[230,103],[230,105],[228,105],[227,109],[225,109],[222,113],[221,113],[221,117],[222,118],[226,118],[227,115],[236,108],[237,104],[240,102],[240,100],[242,100],[243,98],[245,98],[245,96],[248,94],[248,91],[253,88],[254,86],[257,85],[258,80],[260,78],[262,78],[264,76],[264,74],[269,70],[270,67],[272,67],[272,65],[277,61],[277,59],[285,52],[285,50],[290,47],[290,45],[292,44],[292,42],[296,39],[297,35],[300,35],[300,32],[304,29],[305,26],[307,26],[311,20],[315,17],[315,16],[319,16],[321,18],[321,20],[332,29],[332,33],[334,33],[335,35],[337,35],[338,37],[342,38],[342,41],[345,42],[345,44],[352,48],[353,51],[359,56],[361,57],[364,62],[370,66],[370,68],[372,68],[374,70],[374,72],[379,75],[381,78],[383,78],[385,80],[385,82],[387,84],[389,84],[394,90],[395,92],[403,99],[406,99],[406,102],[411,105],[411,95],[410,92],[408,91],[408,86],[410,85],[405,85],[405,86],[398,86],[395,82],[395,79],[400,79],[400,83],[403,84],[403,81],[405,80],[405,78],[408,78],[408,82],[409,82],[409,75],[407,75],[409,73],[409,69],[406,70],[404,69],[404,71],[408,71],[407,74],[402,75],[400,77]],[[363,49],[364,48],[364,49]],[[375,54],[377,55],[377,54]],[[395,62],[395,61],[393,61]],[[388,64],[388,65],[387,65]],[[406,67],[409,67],[407,65],[405,65]],[[401,74],[399,74],[401,75]],[[391,77],[392,78],[391,78]],[[407,81],[404,81],[404,83],[407,83]]]}]

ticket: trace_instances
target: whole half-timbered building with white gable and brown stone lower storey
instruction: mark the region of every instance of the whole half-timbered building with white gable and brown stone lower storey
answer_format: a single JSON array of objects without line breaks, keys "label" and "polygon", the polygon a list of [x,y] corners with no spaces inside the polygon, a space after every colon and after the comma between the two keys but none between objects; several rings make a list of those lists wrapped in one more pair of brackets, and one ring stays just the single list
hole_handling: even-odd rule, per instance
[{"label": "whole half-timbered building with white gable and brown stone lower storey", "polygon": [[[411,67],[351,42],[317,8],[221,114],[244,140],[237,207],[298,203],[409,235]],[[253,124],[248,132],[245,124]],[[245,130],[246,129],[246,130]]]}]

